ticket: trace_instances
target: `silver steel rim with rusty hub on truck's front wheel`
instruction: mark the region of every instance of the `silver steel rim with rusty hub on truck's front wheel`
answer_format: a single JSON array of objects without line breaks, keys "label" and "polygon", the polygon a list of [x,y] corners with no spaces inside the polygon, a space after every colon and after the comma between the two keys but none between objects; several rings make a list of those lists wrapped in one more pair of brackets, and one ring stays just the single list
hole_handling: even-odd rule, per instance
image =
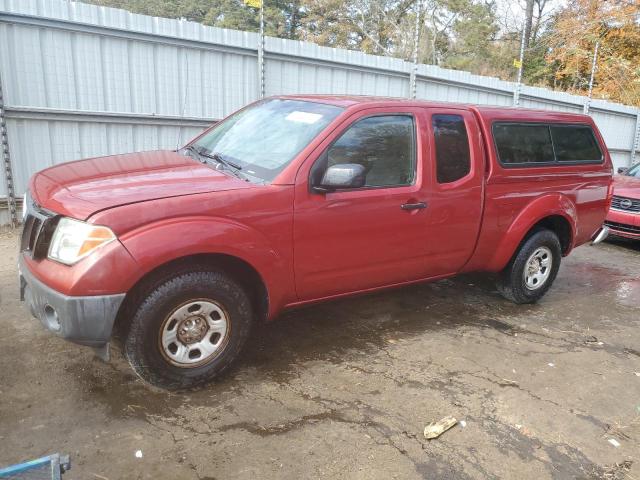
[{"label": "silver steel rim with rusty hub on truck's front wheel", "polygon": [[173,365],[197,367],[225,347],[229,318],[212,300],[192,300],[171,312],[162,323],[160,351]]}]

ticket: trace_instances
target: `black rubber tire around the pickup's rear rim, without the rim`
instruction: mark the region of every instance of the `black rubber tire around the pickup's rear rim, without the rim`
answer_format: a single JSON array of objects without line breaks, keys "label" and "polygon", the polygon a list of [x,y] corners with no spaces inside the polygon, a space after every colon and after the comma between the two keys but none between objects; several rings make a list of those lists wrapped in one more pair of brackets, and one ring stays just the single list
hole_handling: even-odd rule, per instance
[{"label": "black rubber tire around the pickup's rear rim, without the rim", "polygon": [[[525,280],[525,269],[531,256],[540,248],[551,252],[551,265],[548,276],[539,286],[530,288]],[[498,277],[498,291],[507,300],[514,303],[534,303],[547,293],[560,269],[562,248],[558,236],[547,229],[533,232],[520,246],[518,251]],[[545,272],[546,273],[546,272]]]}]

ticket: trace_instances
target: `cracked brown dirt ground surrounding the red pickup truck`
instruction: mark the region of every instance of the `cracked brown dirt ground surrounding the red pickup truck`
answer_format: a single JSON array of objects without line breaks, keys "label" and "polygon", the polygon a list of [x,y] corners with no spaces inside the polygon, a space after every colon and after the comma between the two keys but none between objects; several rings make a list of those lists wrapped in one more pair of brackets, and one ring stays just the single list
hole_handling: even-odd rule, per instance
[{"label": "cracked brown dirt ground surrounding the red pickup truck", "polygon": [[[180,394],[45,332],[18,301],[16,250],[1,234],[0,465],[63,452],[67,480],[640,480],[638,244],[577,249],[533,306],[472,275],[291,311]],[[425,440],[446,415],[466,426]]]}]

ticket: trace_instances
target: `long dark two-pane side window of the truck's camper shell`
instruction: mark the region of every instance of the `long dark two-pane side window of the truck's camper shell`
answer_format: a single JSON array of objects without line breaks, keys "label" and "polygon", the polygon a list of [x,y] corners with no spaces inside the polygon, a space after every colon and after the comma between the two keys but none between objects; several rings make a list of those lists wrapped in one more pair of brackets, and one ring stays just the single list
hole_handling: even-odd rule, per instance
[{"label": "long dark two-pane side window of the truck's camper shell", "polygon": [[604,160],[589,125],[498,121],[492,130],[503,167],[599,164]]}]

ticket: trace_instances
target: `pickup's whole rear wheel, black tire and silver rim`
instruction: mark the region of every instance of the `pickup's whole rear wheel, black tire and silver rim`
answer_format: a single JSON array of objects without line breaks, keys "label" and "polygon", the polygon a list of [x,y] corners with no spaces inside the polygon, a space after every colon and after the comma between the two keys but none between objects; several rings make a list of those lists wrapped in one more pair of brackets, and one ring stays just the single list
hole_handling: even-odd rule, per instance
[{"label": "pickup's whole rear wheel, black tire and silver rim", "polygon": [[515,303],[534,303],[549,290],[560,268],[562,249],[551,230],[533,233],[500,273],[498,291]]}]

